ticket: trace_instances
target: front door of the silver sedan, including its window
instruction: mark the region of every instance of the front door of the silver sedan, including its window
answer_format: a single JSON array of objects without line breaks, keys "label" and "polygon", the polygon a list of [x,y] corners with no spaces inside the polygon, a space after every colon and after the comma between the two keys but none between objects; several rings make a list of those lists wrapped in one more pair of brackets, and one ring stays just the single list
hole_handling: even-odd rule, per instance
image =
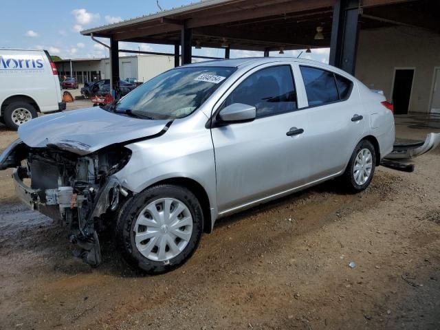
[{"label": "front door of the silver sedan, including its window", "polygon": [[292,66],[253,69],[231,89],[214,111],[249,104],[256,119],[212,128],[220,214],[300,186],[310,175]]}]

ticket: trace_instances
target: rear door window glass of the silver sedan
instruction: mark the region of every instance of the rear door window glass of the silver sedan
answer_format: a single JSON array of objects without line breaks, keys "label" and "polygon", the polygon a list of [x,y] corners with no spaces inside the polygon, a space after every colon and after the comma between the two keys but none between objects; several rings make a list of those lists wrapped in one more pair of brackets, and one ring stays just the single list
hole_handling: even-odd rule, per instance
[{"label": "rear door window glass of the silver sedan", "polygon": [[316,67],[300,66],[309,107],[344,100],[349,97],[353,83],[338,74]]}]

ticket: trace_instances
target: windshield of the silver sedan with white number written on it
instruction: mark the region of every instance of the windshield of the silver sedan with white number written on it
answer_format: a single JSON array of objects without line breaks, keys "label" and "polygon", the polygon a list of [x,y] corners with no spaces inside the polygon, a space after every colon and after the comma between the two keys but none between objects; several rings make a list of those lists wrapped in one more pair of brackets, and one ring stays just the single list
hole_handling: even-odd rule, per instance
[{"label": "windshield of the silver sedan with white number written on it", "polygon": [[157,120],[183,118],[198,109],[234,71],[233,67],[172,69],[134,89],[113,111]]}]

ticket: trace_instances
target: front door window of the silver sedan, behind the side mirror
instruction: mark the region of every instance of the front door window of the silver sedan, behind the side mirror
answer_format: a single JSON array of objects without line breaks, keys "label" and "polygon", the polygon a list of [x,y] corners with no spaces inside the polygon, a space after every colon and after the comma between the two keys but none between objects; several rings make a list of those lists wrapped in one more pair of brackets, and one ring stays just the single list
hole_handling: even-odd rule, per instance
[{"label": "front door window of the silver sedan, behind the side mirror", "polygon": [[221,109],[234,103],[256,107],[257,118],[294,111],[297,105],[291,67],[268,67],[250,75],[225,99]]}]

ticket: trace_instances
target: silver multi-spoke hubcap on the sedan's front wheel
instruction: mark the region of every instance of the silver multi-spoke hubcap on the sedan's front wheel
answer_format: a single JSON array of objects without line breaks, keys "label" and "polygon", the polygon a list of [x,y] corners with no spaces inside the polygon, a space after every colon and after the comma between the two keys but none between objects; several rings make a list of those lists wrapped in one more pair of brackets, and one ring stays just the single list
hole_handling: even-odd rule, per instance
[{"label": "silver multi-spoke hubcap on the sedan's front wheel", "polygon": [[190,210],[177,199],[157,199],[140,212],[135,222],[134,234],[137,250],[147,259],[173,259],[190,241]]}]

